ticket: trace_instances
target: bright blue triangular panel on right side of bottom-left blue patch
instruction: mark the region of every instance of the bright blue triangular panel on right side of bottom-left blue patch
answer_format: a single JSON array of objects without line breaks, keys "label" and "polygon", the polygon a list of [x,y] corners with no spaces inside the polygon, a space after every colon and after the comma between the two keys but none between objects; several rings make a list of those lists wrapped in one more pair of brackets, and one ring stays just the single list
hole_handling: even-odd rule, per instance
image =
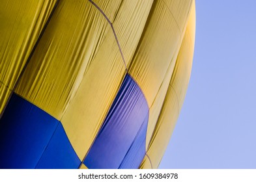
[{"label": "bright blue triangular panel on right side of bottom-left blue patch", "polygon": [[80,164],[81,161],[72,148],[63,125],[59,123],[36,168],[70,169],[79,168]]}]

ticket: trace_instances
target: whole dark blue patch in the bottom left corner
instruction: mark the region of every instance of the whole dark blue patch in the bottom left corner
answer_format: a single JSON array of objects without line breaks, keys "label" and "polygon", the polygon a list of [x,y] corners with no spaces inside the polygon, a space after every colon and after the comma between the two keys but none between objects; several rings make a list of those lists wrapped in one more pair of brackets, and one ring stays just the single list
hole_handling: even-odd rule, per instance
[{"label": "whole dark blue patch in the bottom left corner", "polygon": [[0,168],[79,168],[61,123],[13,94],[0,120]]}]

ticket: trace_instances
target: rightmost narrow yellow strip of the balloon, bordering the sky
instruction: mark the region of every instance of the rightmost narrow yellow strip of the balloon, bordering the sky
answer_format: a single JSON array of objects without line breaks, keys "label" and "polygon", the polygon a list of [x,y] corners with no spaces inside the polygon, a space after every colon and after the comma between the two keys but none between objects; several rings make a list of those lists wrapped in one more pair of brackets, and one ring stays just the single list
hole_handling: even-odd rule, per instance
[{"label": "rightmost narrow yellow strip of the balloon, bordering the sky", "polygon": [[[173,133],[178,114],[182,107],[190,72],[192,68],[193,49],[195,42],[195,2],[193,1],[186,32],[178,52],[177,61],[171,77],[171,82],[164,99],[158,122],[147,148],[147,155],[140,168],[149,168],[147,164],[150,159],[152,168],[158,168],[164,151],[167,147],[169,138]],[[149,159],[147,159],[149,158]]]}]

